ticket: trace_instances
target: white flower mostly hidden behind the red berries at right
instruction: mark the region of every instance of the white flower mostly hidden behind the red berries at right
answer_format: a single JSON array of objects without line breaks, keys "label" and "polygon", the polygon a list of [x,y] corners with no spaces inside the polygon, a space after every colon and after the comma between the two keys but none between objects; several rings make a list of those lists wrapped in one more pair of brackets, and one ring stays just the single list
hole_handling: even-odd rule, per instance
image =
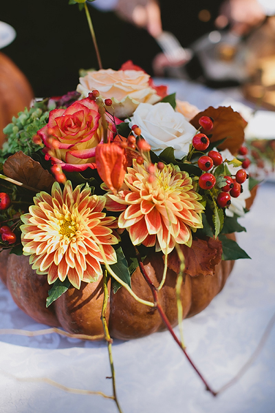
[{"label": "white flower mostly hidden behind the red berries at right", "polygon": [[[234,159],[234,156],[232,156],[228,149],[221,151],[221,156],[223,157],[223,159]],[[228,165],[228,169],[230,173],[232,173],[232,175],[236,175],[236,172],[239,171],[239,169],[242,169],[242,167],[233,167],[233,165]],[[238,198],[231,197],[230,207],[225,209],[225,214],[228,215],[228,217],[232,217],[234,213],[236,213],[236,215],[239,215],[240,217],[243,217],[243,215],[245,215],[245,212],[243,211],[243,209],[245,208],[245,200],[247,200],[251,196],[250,190],[248,188],[248,179],[243,182],[242,187],[243,192],[241,193],[241,195],[239,195]]]}]

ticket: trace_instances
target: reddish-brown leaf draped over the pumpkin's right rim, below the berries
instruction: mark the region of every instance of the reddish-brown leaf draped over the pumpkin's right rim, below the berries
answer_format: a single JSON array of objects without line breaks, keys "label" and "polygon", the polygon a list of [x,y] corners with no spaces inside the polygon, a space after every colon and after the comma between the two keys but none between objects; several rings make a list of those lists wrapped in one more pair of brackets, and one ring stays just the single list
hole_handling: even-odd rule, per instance
[{"label": "reddish-brown leaf draped over the pumpkin's right rim, below the berries", "polygon": [[[184,273],[191,277],[213,275],[214,267],[221,262],[221,241],[207,237],[206,240],[194,238],[192,246],[180,246],[185,257]],[[168,268],[179,273],[179,257],[176,249],[168,255]]]}]

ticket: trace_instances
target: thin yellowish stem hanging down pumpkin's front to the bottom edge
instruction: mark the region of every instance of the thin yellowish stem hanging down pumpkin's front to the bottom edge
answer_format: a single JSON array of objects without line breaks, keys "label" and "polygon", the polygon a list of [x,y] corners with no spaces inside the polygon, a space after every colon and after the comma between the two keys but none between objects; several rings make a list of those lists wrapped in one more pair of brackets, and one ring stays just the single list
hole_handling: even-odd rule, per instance
[{"label": "thin yellowish stem hanging down pumpkin's front to the bottom edge", "polygon": [[107,304],[108,304],[108,299],[109,299],[108,286],[107,286],[107,271],[104,271],[104,274],[103,274],[103,291],[104,291],[104,299],[103,299],[103,306],[102,306],[102,313],[101,313],[101,321],[102,321],[102,325],[104,329],[105,339],[108,345],[109,361],[110,361],[110,367],[111,367],[111,378],[112,378],[112,383],[113,383],[113,399],[115,401],[115,404],[118,407],[118,411],[122,413],[120,404],[118,403],[118,397],[116,394],[115,368],[113,367],[113,354],[112,354],[112,348],[111,348],[112,339],[109,333],[109,328],[108,328],[107,320],[106,320]]}]

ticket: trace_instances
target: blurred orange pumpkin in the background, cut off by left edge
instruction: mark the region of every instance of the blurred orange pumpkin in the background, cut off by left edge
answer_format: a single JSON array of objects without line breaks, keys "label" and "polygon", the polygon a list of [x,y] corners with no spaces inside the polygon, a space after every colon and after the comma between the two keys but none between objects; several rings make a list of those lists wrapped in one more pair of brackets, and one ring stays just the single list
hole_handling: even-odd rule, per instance
[{"label": "blurred orange pumpkin in the background, cut off by left edge", "polygon": [[25,107],[30,107],[34,98],[32,87],[25,75],[8,56],[0,53],[0,147],[5,134],[3,128]]}]

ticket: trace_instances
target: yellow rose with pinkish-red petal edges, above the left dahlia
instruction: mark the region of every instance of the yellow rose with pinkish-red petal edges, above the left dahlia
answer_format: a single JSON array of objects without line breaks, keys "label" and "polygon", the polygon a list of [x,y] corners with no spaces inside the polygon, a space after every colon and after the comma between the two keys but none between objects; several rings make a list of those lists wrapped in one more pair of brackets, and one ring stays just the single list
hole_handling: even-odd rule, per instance
[{"label": "yellow rose with pinkish-red petal edges, above the left dahlia", "polygon": [[[120,120],[118,120],[120,123]],[[109,129],[115,131],[113,125]],[[109,130],[109,138],[113,139]],[[50,112],[48,124],[37,132],[45,144],[45,153],[63,171],[96,168],[96,146],[102,140],[98,105],[89,98],[78,100],[67,109]]]}]

